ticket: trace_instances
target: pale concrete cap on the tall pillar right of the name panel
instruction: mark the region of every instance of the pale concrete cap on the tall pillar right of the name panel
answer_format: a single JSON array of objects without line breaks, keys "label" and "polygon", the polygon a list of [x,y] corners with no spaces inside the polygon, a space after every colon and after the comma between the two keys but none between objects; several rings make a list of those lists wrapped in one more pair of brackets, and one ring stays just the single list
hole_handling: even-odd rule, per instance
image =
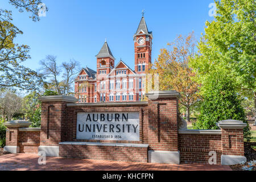
[{"label": "pale concrete cap on the tall pillar right of the name panel", "polygon": [[180,97],[180,93],[175,90],[150,91],[145,94],[148,99],[156,100],[158,98]]}]

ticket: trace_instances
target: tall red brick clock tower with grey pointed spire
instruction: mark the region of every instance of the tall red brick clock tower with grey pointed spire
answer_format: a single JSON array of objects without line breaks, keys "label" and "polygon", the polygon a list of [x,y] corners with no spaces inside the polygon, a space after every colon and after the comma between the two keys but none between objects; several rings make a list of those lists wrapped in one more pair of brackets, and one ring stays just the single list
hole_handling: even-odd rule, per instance
[{"label": "tall red brick clock tower with grey pointed spire", "polygon": [[152,32],[147,29],[144,16],[142,15],[141,22],[137,32],[134,34],[134,55],[135,55],[135,72],[145,73],[151,63],[152,50]]}]

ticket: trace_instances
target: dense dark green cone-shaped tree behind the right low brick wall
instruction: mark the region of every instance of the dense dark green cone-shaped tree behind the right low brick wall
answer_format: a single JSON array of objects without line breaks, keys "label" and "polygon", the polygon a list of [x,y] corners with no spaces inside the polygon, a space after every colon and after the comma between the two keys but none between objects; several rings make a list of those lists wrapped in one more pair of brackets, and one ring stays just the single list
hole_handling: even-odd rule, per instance
[{"label": "dense dark green cone-shaped tree behind the right low brick wall", "polygon": [[[241,97],[234,88],[233,80],[221,73],[218,79],[212,77],[205,85],[204,102],[201,104],[197,122],[193,123],[194,129],[218,129],[216,123],[225,119],[236,119],[247,123],[241,103]],[[244,129],[244,137],[250,140],[248,123]]]}]

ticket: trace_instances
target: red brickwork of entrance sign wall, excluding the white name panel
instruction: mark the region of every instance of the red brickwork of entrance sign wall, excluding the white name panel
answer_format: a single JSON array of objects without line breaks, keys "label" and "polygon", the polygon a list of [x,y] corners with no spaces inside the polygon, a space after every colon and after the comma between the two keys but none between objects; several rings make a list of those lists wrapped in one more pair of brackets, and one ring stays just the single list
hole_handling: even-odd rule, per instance
[{"label": "red brickwork of entrance sign wall, excluding the white name panel", "polygon": [[[244,158],[245,123],[220,121],[221,130],[179,130],[177,93],[161,94],[154,99],[148,95],[148,102],[106,104],[75,104],[73,97],[44,96],[40,98],[41,129],[24,128],[30,123],[5,123],[6,148],[17,146],[19,152],[37,153],[38,148],[48,147],[61,157],[143,163],[159,154],[179,155],[181,163],[208,163],[210,151],[216,152],[217,163],[222,163],[222,157]],[[77,113],[102,112],[138,112],[139,140],[77,139]]]}]

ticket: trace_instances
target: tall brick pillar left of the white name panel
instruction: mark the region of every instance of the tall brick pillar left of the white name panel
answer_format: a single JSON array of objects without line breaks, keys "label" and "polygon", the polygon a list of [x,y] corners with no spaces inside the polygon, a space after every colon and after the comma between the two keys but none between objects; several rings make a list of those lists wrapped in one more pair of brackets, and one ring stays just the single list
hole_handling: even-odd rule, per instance
[{"label": "tall brick pillar left of the white name panel", "polygon": [[38,151],[45,151],[47,156],[59,156],[59,143],[65,142],[64,132],[67,103],[75,103],[77,99],[70,96],[43,96],[41,133]]}]

